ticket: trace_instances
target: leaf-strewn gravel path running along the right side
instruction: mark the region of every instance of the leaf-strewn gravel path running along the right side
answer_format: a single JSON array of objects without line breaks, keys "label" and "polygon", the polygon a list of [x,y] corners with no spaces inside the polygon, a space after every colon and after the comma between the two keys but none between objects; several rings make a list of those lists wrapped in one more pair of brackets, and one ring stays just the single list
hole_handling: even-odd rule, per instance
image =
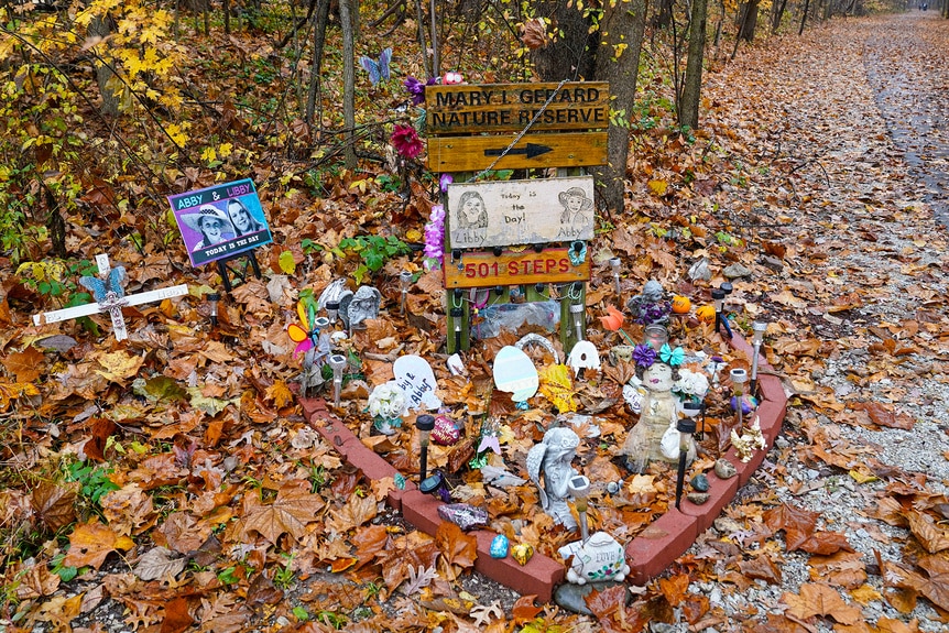
[{"label": "leaf-strewn gravel path running along the right side", "polygon": [[[949,257],[938,221],[949,200],[947,41],[949,22],[931,12],[835,20],[740,55],[709,77],[707,91],[726,103],[717,111],[729,121],[753,122],[756,141],[729,149],[753,156],[765,176],[746,189],[727,190],[730,206],[722,208],[751,207],[762,234],[788,249],[779,273],[759,269],[738,287],[782,330],[770,339],[772,350],[788,391],[797,394],[785,436],[740,496],[756,485],[759,493],[819,512],[819,527],[847,535],[861,554],[866,583],[880,592],[876,554],[912,567],[919,544],[906,527],[873,519],[873,509],[897,481],[912,480],[920,496],[937,495],[942,503],[949,483],[949,319],[942,298]],[[709,122],[711,129],[732,124]],[[797,302],[777,305],[774,295],[785,287]],[[814,339],[819,342],[800,345]],[[881,412],[912,428],[872,424]],[[816,455],[815,447],[827,452]],[[863,483],[848,473],[872,460],[904,473]],[[690,554],[707,555],[722,536],[740,538],[760,524],[738,502],[726,514],[721,530],[708,531]],[[943,535],[945,525],[943,514]],[[750,548],[773,547],[775,538]],[[783,547],[783,539],[777,543]],[[784,594],[821,575],[808,554],[773,558],[781,560],[781,585],[690,588],[710,596],[729,620],[707,631],[754,630],[752,622],[786,609]],[[720,579],[727,568],[717,563]],[[917,619],[920,631],[949,629],[925,599],[899,613],[882,598],[858,604],[850,591],[840,593],[871,623]],[[832,624],[818,619],[810,630],[831,631]]]}]

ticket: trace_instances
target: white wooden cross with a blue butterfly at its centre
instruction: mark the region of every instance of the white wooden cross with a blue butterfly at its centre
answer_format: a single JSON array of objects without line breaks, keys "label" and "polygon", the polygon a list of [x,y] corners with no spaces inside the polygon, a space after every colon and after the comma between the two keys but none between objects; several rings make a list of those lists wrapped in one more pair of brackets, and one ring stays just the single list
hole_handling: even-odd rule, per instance
[{"label": "white wooden cross with a blue butterfly at its centre", "polygon": [[79,280],[79,283],[92,292],[92,298],[96,299],[94,303],[33,315],[33,325],[56,323],[108,312],[109,316],[112,317],[116,340],[124,340],[129,338],[129,335],[126,331],[126,319],[122,317],[123,306],[137,306],[188,294],[187,284],[181,284],[170,288],[159,288],[156,291],[126,296],[121,285],[126,279],[126,269],[122,266],[110,268],[109,255],[107,254],[96,255],[96,264],[99,266],[100,279],[83,277]]}]

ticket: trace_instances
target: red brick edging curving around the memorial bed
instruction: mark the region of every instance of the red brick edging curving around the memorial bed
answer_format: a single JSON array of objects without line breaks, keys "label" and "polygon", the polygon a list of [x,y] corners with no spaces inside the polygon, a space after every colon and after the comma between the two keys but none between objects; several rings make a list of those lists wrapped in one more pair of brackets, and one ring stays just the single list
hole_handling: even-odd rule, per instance
[{"label": "red brick edging curving around the memorial bed", "polygon": [[[741,337],[735,335],[732,345],[744,351],[749,358],[754,350]],[[760,369],[768,369],[765,363]],[[767,448],[774,445],[781,425],[787,411],[787,396],[781,381],[771,374],[757,376],[759,390],[762,396],[757,408],[762,434],[767,440]],[[298,399],[310,426],[332,445],[346,460],[360,469],[370,479],[395,477],[399,471],[369,447],[362,444],[352,432],[326,407],[321,399]],[[748,462],[741,462],[734,449],[729,449],[726,457],[735,465],[738,477],[728,480],[719,479],[709,473],[711,488],[707,503],[695,505],[688,500],[681,503],[681,510],[670,509],[654,521],[644,532],[626,545],[626,563],[630,564],[630,581],[643,585],[655,578],[676,558],[681,556],[695,542],[699,533],[711,526],[722,509],[734,499],[739,488],[744,485],[755,469],[764,460],[766,450],[756,451]],[[423,494],[414,482],[406,480],[404,490],[391,490],[388,503],[414,525],[427,534],[434,535],[441,519],[438,516],[440,502]],[[475,532],[478,538],[478,558],[475,569],[492,580],[510,587],[522,596],[536,596],[542,602],[549,602],[554,588],[564,580],[566,569],[553,558],[535,554],[527,565],[519,565],[510,556],[491,558],[489,554],[494,534],[488,531]]]}]

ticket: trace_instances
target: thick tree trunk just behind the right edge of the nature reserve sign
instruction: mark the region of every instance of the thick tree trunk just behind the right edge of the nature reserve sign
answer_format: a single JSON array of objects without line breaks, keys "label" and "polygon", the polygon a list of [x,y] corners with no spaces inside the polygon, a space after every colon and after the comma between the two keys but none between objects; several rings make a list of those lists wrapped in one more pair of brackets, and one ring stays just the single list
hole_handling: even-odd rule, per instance
[{"label": "thick tree trunk just behind the right edge of the nature reserve sign", "polygon": [[[626,160],[630,154],[629,120],[636,96],[640,50],[646,28],[647,0],[617,2],[607,9],[600,23],[600,45],[597,47],[596,79],[610,83],[611,112],[624,111],[622,125],[611,124],[607,137],[608,164],[590,172],[602,186],[602,198],[611,212],[622,212],[624,205]],[[617,46],[628,47],[617,55]]]}]

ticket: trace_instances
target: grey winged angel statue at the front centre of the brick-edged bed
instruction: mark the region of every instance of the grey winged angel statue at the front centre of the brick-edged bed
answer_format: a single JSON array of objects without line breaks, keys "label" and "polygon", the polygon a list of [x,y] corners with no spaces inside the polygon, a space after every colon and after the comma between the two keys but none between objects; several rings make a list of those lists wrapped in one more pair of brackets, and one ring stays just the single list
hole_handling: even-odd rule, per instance
[{"label": "grey winged angel statue at the front centre of the brick-edged bed", "polygon": [[[570,495],[567,484],[578,474],[570,466],[577,455],[580,437],[572,429],[555,427],[544,434],[544,440],[527,452],[527,474],[541,493],[541,506],[567,530],[577,528],[577,521],[567,506]],[[541,485],[541,473],[544,485]]]}]

